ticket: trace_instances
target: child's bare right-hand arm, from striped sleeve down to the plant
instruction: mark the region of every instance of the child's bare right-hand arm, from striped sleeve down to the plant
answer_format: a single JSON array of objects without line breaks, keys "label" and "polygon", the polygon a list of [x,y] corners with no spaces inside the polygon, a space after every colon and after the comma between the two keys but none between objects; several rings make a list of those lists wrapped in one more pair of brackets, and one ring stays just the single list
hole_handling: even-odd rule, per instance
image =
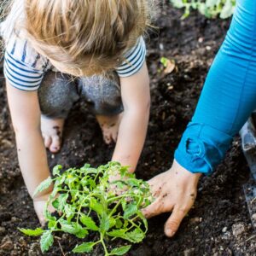
[{"label": "child's bare right-hand arm, from striped sleeve down to the plant", "polygon": [[134,172],[148,128],[150,90],[146,63],[131,77],[120,78],[120,84],[124,115],[112,160],[131,166],[130,171]]}]

